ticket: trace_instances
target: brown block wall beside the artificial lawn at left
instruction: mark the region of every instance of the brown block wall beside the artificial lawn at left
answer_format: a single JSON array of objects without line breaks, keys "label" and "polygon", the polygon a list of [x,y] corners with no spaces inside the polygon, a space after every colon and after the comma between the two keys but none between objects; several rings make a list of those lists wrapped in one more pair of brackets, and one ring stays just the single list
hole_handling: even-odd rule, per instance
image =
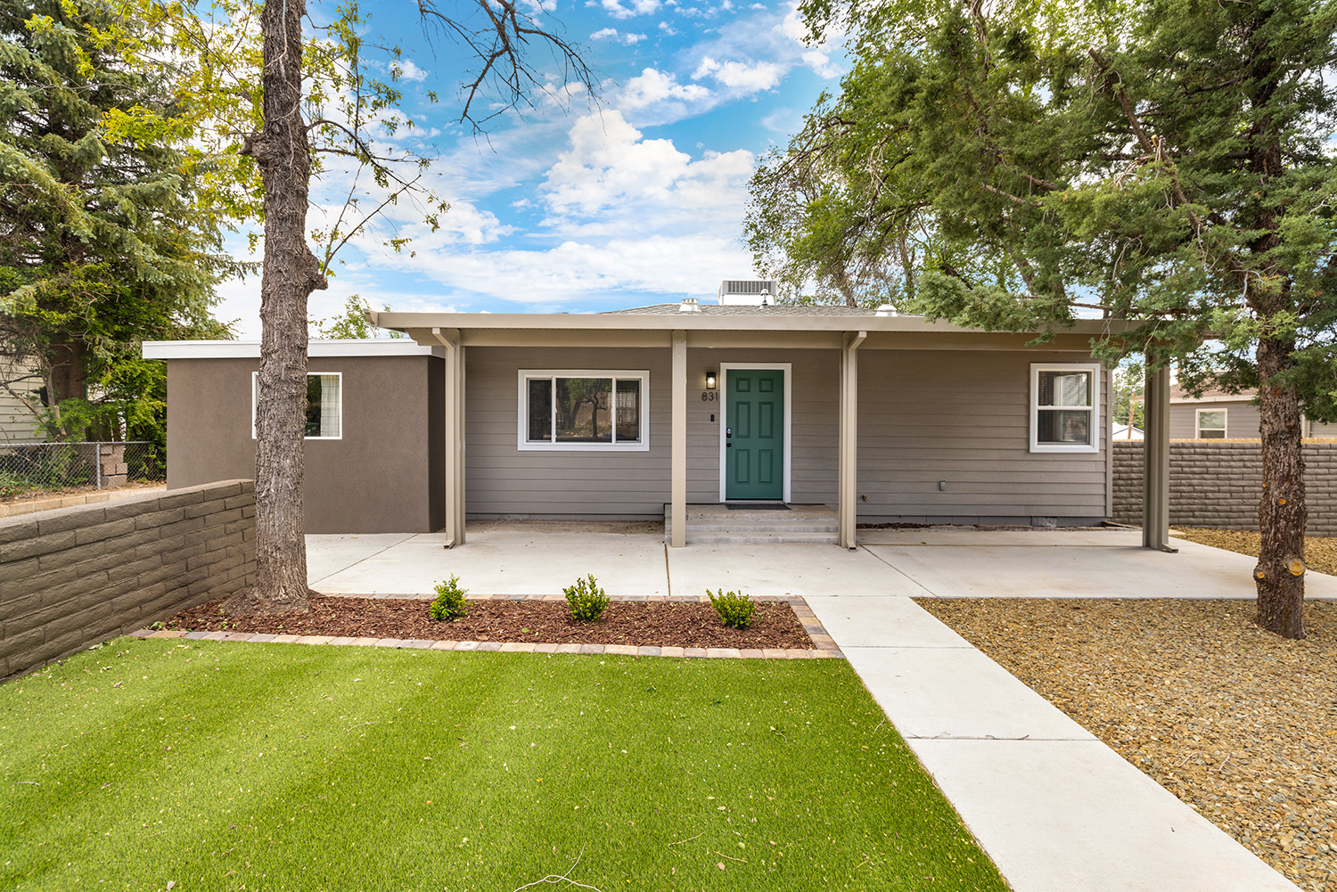
[{"label": "brown block wall beside the artificial lawn at left", "polygon": [[0,678],[230,595],[254,574],[250,480],[0,519]]}]

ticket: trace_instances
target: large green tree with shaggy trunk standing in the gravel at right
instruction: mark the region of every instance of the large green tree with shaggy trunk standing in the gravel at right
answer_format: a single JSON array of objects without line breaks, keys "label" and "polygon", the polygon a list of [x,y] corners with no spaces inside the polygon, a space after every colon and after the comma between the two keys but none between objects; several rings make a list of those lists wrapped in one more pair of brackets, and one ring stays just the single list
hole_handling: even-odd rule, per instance
[{"label": "large green tree with shaggy trunk standing in the gravel at right", "polygon": [[1332,419],[1337,391],[1337,87],[1324,79],[1337,7],[809,0],[804,12],[814,33],[854,35],[825,116],[840,185],[866,181],[882,243],[928,221],[980,258],[928,257],[908,309],[1042,340],[1082,313],[1127,320],[1092,345],[1111,364],[1140,353],[1148,368],[1177,362],[1190,391],[1258,388],[1258,622],[1304,637],[1300,420]]}]

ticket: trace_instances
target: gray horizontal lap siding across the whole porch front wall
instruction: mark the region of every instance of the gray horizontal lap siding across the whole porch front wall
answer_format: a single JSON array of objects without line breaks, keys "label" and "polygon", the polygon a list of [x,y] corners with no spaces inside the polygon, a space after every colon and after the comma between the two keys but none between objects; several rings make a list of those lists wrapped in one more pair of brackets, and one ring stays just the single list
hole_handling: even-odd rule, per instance
[{"label": "gray horizontal lap siding across the whole porch front wall", "polygon": [[[976,350],[860,353],[860,516],[1106,516],[1102,452],[1031,453],[1029,364],[1071,354]],[[670,497],[668,349],[469,348],[468,512],[473,516],[660,516]],[[723,405],[701,399],[723,364],[792,364],[790,499],[834,504],[840,352],[689,349],[687,500],[719,500]],[[648,369],[646,452],[520,452],[517,370]],[[1104,391],[1104,388],[1102,389]],[[714,416],[714,420],[711,420]],[[940,492],[937,481],[947,480]]]}]

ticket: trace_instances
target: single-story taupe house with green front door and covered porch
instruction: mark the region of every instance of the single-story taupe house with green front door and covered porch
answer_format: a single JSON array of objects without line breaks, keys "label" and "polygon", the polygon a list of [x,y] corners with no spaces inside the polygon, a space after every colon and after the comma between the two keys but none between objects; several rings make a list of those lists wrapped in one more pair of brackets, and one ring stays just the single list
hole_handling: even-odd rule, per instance
[{"label": "single-story taupe house with green front door and covered porch", "polygon": [[[771,306],[773,288],[599,314],[373,313],[412,340],[312,341],[308,531],[460,544],[468,519],[667,515],[683,544],[687,504],[814,504],[853,547],[865,522],[1111,515],[1110,376],[1090,352],[1108,322],[1029,346],[889,308]],[[259,344],[144,357],[167,362],[168,488],[251,476]]]}]

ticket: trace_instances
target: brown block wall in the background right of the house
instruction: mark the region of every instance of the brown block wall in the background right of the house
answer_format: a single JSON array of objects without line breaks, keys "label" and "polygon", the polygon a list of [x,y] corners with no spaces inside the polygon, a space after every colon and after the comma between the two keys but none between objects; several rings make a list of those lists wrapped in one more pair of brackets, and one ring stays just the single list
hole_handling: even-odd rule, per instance
[{"label": "brown block wall in the background right of the house", "polygon": [[[1142,443],[1114,443],[1114,516],[1142,523]],[[1305,444],[1309,535],[1337,536],[1337,443]],[[1262,495],[1261,444],[1170,443],[1170,523],[1257,530]]]}]

